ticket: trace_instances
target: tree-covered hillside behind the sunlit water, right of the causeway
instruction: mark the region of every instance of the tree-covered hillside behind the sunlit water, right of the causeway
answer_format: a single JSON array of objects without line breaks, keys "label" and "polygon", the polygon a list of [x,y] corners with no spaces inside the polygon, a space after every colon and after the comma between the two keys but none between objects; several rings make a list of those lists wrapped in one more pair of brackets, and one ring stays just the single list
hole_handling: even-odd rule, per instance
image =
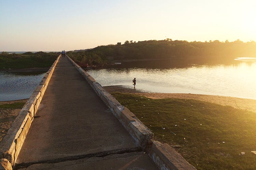
[{"label": "tree-covered hillside behind the sunlit water, right of the causeway", "polygon": [[227,62],[236,57],[256,57],[256,42],[244,43],[182,40],[126,41],[124,44],[99,46],[93,49],[71,51],[68,55],[78,63],[103,65],[113,60],[173,58],[186,62]]}]

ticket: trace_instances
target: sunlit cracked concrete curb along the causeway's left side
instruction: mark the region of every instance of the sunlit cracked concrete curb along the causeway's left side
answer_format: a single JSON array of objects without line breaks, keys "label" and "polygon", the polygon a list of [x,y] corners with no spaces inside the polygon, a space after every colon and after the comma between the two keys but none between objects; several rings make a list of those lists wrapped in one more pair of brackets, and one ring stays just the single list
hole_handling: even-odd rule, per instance
[{"label": "sunlit cracked concrete curb along the causeway's left side", "polygon": [[12,169],[12,166],[15,164],[30,125],[34,119],[34,115],[37,112],[53,71],[59,61],[59,57],[60,55],[46,72],[39,86],[35,88],[34,92],[19,112],[17,118],[12,123],[11,128],[0,142],[0,169]]}]

